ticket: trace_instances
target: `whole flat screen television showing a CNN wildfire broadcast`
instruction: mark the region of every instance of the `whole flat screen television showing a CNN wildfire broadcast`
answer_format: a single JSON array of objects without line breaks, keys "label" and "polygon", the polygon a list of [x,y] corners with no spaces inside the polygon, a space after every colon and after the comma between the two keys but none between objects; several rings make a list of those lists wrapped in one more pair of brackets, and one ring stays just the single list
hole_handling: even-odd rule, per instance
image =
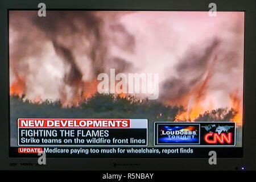
[{"label": "whole flat screen television showing a CNN wildfire broadcast", "polygon": [[245,8],[5,3],[1,168],[255,169]]}]

